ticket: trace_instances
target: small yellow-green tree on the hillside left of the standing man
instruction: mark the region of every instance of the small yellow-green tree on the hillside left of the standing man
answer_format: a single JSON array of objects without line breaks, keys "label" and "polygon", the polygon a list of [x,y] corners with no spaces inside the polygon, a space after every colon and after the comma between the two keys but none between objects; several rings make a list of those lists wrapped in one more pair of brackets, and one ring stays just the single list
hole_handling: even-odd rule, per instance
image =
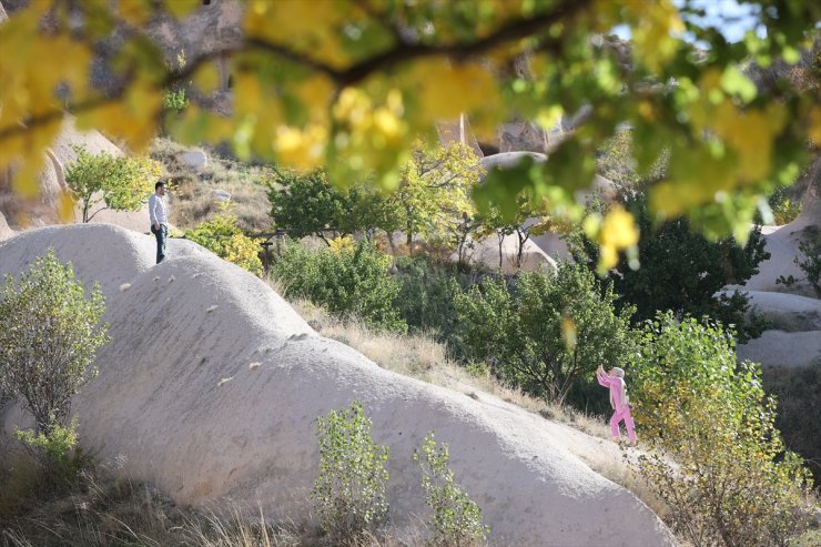
[{"label": "small yellow-green tree on the hillside left of the standing man", "polygon": [[[105,152],[91,154],[74,146],[77,160],[65,170],[65,184],[80,202],[83,222],[100,211],[136,211],[153,192],[162,165],[148,158],[114,158]],[[91,213],[99,203],[105,206]]]}]

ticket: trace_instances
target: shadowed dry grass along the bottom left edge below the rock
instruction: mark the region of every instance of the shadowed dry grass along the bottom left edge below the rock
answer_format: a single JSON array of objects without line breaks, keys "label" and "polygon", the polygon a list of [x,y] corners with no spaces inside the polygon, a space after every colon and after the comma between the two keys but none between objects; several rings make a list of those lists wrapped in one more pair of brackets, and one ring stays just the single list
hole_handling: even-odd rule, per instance
[{"label": "shadowed dry grass along the bottom left edge below the rock", "polygon": [[[236,508],[223,515],[203,507],[180,507],[150,485],[115,477],[112,469],[85,472],[59,496],[29,496],[27,507],[0,514],[0,547],[330,547],[313,523],[272,523],[262,509]],[[8,478],[8,477],[6,477]],[[0,498],[6,497],[0,482]],[[423,545],[424,529],[401,541],[386,530],[365,535],[351,547]]]}]

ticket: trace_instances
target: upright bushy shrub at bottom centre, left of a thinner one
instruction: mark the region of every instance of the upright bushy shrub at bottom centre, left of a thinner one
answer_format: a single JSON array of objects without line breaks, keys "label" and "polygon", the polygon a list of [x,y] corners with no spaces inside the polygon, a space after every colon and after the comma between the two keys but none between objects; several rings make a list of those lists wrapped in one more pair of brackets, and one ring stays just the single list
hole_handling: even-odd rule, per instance
[{"label": "upright bushy shrub at bottom centre, left of a thinner one", "polygon": [[385,468],[389,449],[374,443],[362,403],[317,419],[320,474],[311,493],[323,529],[337,541],[375,531],[387,521]]}]

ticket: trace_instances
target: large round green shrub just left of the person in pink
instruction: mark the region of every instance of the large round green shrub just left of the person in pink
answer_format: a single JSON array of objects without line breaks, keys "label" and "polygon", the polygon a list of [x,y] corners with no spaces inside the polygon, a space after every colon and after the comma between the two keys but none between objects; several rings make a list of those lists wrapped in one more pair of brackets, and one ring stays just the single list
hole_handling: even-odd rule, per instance
[{"label": "large round green shrub just left of the person in pink", "polygon": [[617,313],[610,284],[584,266],[488,278],[456,297],[468,358],[491,363],[511,386],[561,404],[582,376],[632,348],[631,308]]}]

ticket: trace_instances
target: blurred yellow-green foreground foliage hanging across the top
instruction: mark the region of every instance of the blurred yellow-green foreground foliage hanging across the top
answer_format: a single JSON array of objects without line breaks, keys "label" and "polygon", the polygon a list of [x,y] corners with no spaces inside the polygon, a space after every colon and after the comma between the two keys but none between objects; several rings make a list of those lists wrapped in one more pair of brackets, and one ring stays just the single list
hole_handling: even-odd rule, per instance
[{"label": "blurred yellow-green foreground foliage hanging across the top", "polygon": [[[515,211],[527,190],[580,219],[574,191],[589,186],[597,148],[628,123],[639,171],[669,152],[650,192],[653,217],[689,214],[708,234],[727,234],[821,141],[817,75],[809,88],[751,78],[751,67],[800,60],[821,4],[744,4],[751,30],[729,43],[722,21],[692,0],[250,0],[241,39],[180,67],[148,29],[206,9],[200,0],[34,1],[0,26],[0,170],[16,165],[16,192],[37,193],[43,150],[70,112],[134,150],[164,125],[184,143],[230,142],[242,156],[324,165],[338,184],[375,173],[394,188],[414,141],[439,120],[466,113],[484,135],[515,115],[547,130],[565,114],[576,126],[549,160],[489,173],[475,192],[480,207]],[[90,79],[103,45],[114,74],[107,90]],[[194,100],[216,87],[224,59],[229,115]],[[164,110],[165,93],[187,82],[191,103]],[[595,225],[602,256],[635,245],[622,213]]]}]

